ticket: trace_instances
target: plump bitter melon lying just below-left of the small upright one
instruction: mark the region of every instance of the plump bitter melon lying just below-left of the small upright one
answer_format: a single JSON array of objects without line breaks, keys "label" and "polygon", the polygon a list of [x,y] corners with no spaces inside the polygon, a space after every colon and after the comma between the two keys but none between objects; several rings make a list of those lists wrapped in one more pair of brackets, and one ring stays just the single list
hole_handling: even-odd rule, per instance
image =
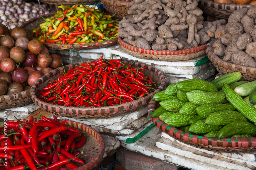
[{"label": "plump bitter melon lying just below-left of the small upright one", "polygon": [[178,112],[179,109],[182,108],[182,106],[185,104],[185,102],[182,102],[179,99],[171,99],[171,100],[161,101],[160,104],[166,110],[169,110],[172,112]]}]

